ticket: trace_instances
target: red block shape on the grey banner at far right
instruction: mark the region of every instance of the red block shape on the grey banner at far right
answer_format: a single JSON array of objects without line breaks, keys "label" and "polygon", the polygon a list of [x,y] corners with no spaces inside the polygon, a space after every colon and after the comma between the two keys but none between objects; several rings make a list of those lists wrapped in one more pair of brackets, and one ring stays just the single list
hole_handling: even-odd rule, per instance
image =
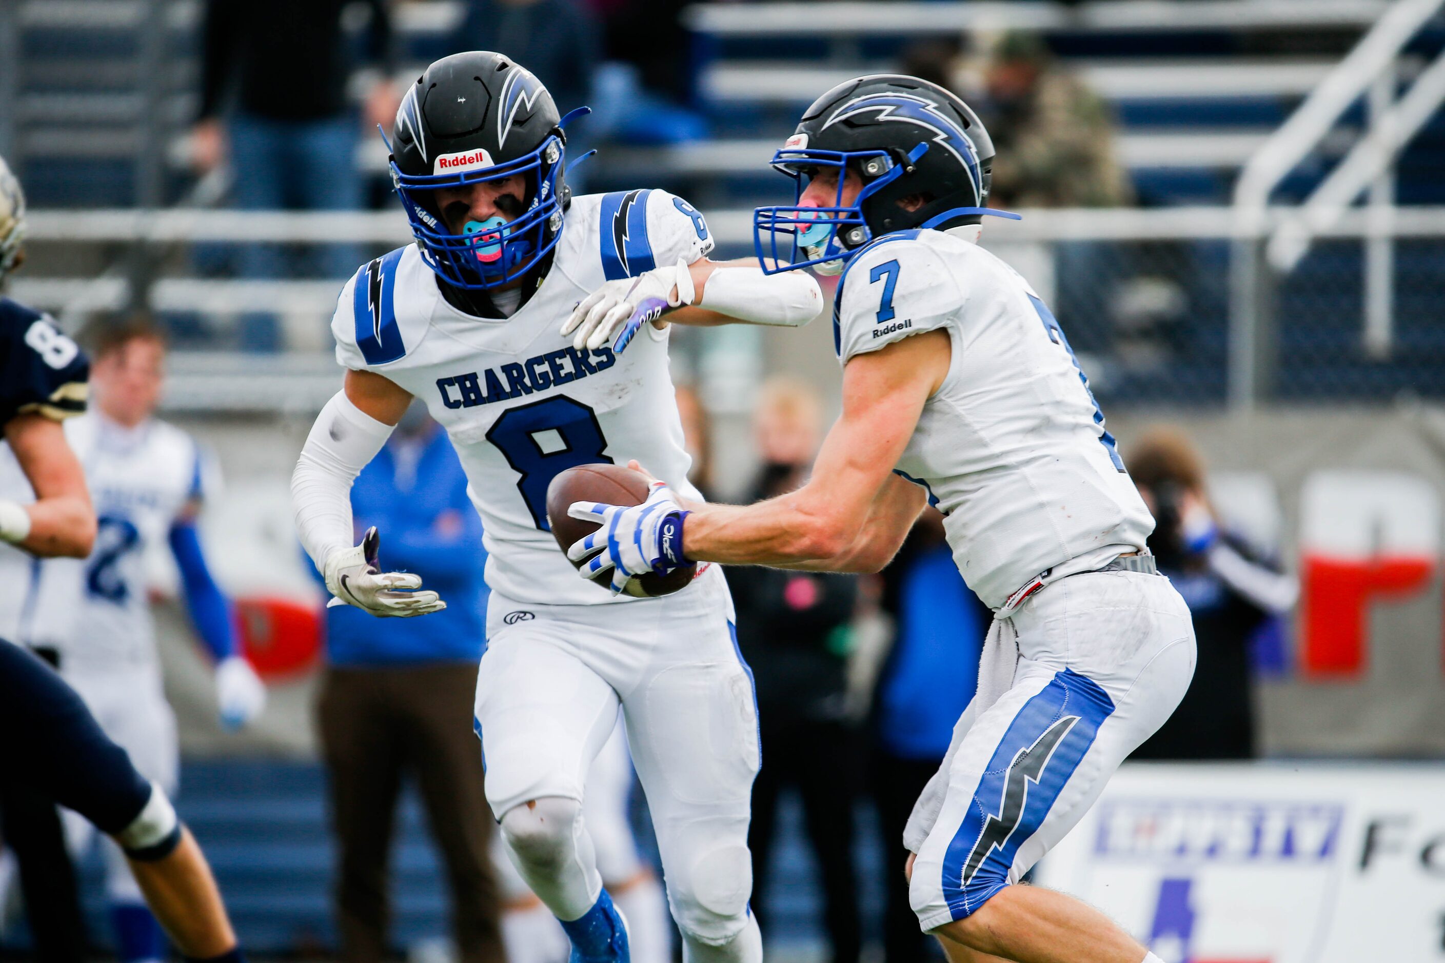
[{"label": "red block shape on the grey banner at far right", "polygon": [[1300,668],[1306,676],[1355,677],[1366,667],[1370,603],[1425,591],[1435,559],[1305,556],[1302,569]]}]

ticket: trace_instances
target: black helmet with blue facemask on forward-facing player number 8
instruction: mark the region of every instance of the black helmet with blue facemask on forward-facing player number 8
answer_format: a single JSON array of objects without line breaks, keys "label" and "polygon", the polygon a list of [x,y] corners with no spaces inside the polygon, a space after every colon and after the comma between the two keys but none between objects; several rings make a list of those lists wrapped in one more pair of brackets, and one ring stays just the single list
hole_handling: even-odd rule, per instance
[{"label": "black helmet with blue facemask on forward-facing player number 8", "polygon": [[[473,290],[500,287],[556,245],[571,201],[562,131],[571,117],[559,118],[542,82],[503,53],[454,53],[416,79],[387,141],[392,183],[422,258],[442,280]],[[435,202],[438,188],[512,175],[526,179],[520,215],[468,221],[462,234],[451,232]]]}]

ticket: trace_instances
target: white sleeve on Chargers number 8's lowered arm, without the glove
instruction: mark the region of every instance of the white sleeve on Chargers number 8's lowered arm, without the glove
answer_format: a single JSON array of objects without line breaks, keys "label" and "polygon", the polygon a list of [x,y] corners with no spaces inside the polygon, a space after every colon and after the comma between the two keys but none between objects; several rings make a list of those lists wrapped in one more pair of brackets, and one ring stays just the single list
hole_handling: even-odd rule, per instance
[{"label": "white sleeve on Chargers number 8's lowered arm, without the glove", "polygon": [[358,409],[337,391],[311,426],[290,476],[296,534],[318,572],[327,557],[355,541],[351,530],[351,482],[392,436],[390,424]]}]

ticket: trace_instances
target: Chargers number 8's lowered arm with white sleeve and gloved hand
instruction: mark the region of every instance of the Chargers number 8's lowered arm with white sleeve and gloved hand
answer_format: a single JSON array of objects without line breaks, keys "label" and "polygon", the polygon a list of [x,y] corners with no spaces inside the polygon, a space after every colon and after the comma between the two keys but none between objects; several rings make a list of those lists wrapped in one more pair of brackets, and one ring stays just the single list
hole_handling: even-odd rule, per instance
[{"label": "Chargers number 8's lowered arm with white sleeve and gloved hand", "polygon": [[354,544],[351,482],[376,458],[412,396],[370,371],[347,371],[344,390],[321,410],[290,476],[296,533],[334,596],[376,616],[426,615],[447,608],[420,592],[415,575],[383,572],[380,536],[370,528]]}]

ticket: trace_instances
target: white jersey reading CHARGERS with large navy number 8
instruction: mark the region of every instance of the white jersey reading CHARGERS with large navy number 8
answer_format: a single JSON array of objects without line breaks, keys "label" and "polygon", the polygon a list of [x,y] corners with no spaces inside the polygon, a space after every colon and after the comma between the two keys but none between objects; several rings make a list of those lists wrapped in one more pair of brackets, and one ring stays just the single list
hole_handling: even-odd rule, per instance
[{"label": "white jersey reading CHARGERS with large navy number 8", "polygon": [[[574,198],[542,284],[510,318],[475,318],[442,297],[415,245],[364,264],[331,322],[337,361],[426,403],[451,436],[481,514],[487,585],[533,605],[621,603],[578,578],[552,537],[548,484],[574,465],[636,458],[688,498],[691,459],[653,325],[618,355],[561,334],[603,282],[692,263],[712,248],[702,217],[665,191]],[[386,533],[381,533],[386,565]]]}]

